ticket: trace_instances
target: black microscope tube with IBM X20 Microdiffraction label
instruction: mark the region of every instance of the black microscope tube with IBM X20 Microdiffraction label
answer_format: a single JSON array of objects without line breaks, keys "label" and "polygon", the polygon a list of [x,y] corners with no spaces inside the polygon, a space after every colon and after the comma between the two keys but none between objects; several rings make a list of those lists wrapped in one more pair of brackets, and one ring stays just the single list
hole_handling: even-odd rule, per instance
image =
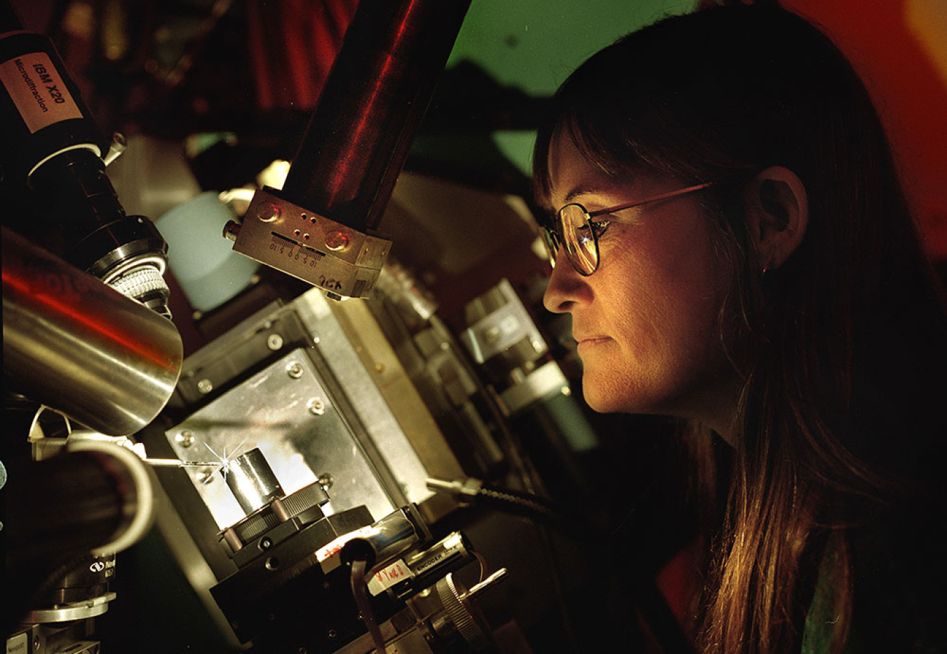
[{"label": "black microscope tube with IBM X20 Microdiffraction label", "polygon": [[148,219],[125,215],[96,121],[40,34],[0,31],[0,142],[4,181],[19,191],[4,224],[170,318],[168,245]]}]

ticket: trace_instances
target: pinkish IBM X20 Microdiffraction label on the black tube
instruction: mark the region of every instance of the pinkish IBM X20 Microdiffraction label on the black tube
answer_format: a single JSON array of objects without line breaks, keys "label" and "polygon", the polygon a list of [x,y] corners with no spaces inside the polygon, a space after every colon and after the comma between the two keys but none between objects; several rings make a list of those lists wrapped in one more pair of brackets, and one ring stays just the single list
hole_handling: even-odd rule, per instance
[{"label": "pinkish IBM X20 Microdiffraction label on the black tube", "polygon": [[0,63],[7,89],[30,133],[69,118],[81,118],[76,101],[45,52],[29,52]]}]

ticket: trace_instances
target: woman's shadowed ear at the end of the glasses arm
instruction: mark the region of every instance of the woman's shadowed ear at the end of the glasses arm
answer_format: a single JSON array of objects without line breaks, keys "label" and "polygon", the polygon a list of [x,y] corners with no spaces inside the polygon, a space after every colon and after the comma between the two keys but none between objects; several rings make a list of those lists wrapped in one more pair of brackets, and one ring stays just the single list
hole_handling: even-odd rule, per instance
[{"label": "woman's shadowed ear at the end of the glasses arm", "polygon": [[802,242],[809,224],[806,187],[789,168],[759,172],[746,186],[746,220],[763,269],[785,263]]}]

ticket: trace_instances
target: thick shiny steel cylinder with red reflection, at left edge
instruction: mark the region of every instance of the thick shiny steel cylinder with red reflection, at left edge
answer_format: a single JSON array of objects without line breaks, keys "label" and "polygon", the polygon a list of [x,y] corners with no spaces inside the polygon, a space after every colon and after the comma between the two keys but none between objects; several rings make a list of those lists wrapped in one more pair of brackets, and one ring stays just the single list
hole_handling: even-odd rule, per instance
[{"label": "thick shiny steel cylinder with red reflection, at left edge", "polygon": [[168,402],[183,345],[170,320],[5,228],[3,357],[12,390],[128,435]]}]

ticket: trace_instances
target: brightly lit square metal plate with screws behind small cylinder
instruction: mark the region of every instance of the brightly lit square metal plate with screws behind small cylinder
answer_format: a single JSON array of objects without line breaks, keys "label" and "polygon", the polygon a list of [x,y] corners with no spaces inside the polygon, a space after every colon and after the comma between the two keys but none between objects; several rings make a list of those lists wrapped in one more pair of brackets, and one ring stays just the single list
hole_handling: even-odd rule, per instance
[{"label": "brightly lit square metal plate with screws behind small cylinder", "polygon": [[[211,401],[166,436],[184,461],[233,458],[259,448],[287,494],[328,473],[333,483],[323,506],[327,515],[364,504],[377,520],[396,508],[303,348]],[[243,518],[221,472],[191,468],[188,475],[218,526]]]}]

